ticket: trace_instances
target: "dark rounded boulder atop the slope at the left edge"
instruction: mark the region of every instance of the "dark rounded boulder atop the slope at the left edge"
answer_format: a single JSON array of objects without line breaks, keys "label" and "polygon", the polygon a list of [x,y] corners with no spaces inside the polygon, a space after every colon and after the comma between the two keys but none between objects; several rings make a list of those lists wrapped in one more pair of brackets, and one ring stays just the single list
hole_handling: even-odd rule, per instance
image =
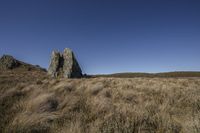
[{"label": "dark rounded boulder atop the slope at the left edge", "polygon": [[0,59],[0,69],[9,70],[16,68],[20,63],[10,55],[3,55]]}]

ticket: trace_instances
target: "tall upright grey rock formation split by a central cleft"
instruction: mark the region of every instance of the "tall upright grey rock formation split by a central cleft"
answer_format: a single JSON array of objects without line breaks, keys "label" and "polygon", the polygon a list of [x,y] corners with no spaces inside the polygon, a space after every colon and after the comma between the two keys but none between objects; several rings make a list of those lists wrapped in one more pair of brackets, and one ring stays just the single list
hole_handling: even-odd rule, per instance
[{"label": "tall upright grey rock formation split by a central cleft", "polygon": [[64,53],[53,51],[48,73],[52,77],[80,78],[81,68],[71,49],[65,48]]}]

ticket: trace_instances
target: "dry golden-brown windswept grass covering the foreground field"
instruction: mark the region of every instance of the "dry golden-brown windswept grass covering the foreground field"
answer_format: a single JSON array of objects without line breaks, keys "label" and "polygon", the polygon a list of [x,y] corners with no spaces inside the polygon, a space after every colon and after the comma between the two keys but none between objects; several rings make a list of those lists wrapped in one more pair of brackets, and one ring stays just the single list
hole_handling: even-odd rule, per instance
[{"label": "dry golden-brown windswept grass covering the foreground field", "polygon": [[199,78],[44,75],[1,72],[0,132],[200,132]]}]

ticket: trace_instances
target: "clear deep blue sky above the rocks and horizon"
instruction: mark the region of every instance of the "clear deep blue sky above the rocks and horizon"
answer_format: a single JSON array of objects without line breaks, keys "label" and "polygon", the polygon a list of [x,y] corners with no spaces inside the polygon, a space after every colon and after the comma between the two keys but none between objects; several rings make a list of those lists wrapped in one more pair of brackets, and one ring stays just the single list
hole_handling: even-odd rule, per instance
[{"label": "clear deep blue sky above the rocks and horizon", "polygon": [[0,55],[65,47],[89,74],[200,71],[200,0],[0,0]]}]

